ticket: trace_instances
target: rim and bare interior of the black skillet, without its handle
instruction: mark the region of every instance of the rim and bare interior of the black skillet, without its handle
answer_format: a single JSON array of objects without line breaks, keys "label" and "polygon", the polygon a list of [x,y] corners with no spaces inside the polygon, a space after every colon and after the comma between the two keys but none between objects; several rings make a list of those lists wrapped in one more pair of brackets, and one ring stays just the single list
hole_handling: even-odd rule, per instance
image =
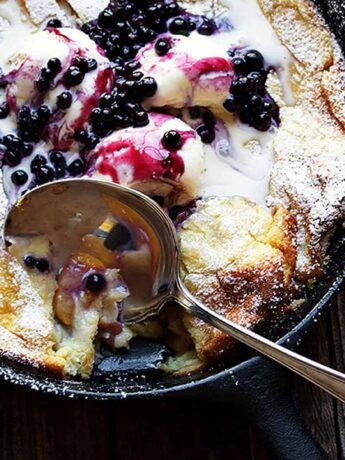
[{"label": "rim and bare interior of the black skillet, without its handle", "polygon": [[[341,1],[335,0],[316,0],[315,3],[344,49],[345,7],[341,6]],[[342,284],[345,278],[344,233],[334,238],[330,260],[326,275],[310,292],[307,292],[308,300],[303,311],[294,318],[290,318],[279,331],[274,332],[277,338],[282,337],[280,342],[285,346],[294,347],[298,344]],[[288,330],[289,332],[286,333]],[[148,341],[134,342],[131,351],[126,355],[117,357],[104,355],[97,363],[95,372],[89,381],[56,379],[50,375],[42,375],[42,372],[29,366],[1,358],[0,376],[12,383],[46,393],[97,399],[120,399],[144,395],[157,396],[184,390],[209,379],[217,380],[226,374],[233,376],[234,372],[241,369],[241,366],[248,364],[248,361],[237,362],[233,363],[235,367],[213,368],[191,376],[176,378],[163,375],[157,370],[157,363],[166,353],[168,350],[162,344]],[[234,386],[236,385],[235,379],[230,378],[229,385],[231,382]]]}]

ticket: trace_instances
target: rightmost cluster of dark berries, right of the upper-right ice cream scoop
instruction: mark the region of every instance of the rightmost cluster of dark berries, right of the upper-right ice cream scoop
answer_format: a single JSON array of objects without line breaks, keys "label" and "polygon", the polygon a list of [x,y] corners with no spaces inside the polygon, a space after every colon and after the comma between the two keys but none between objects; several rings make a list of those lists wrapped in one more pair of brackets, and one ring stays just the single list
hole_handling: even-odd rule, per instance
[{"label": "rightmost cluster of dark berries, right of the upper-right ice cream scoop", "polygon": [[266,91],[264,58],[256,50],[233,52],[231,57],[236,77],[224,108],[237,113],[243,123],[259,131],[267,131],[272,120],[279,122],[279,109]]}]

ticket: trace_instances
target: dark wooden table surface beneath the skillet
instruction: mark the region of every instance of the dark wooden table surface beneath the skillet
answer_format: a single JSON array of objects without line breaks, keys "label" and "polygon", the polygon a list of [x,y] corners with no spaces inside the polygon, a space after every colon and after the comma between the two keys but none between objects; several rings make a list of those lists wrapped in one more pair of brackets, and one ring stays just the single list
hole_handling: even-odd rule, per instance
[{"label": "dark wooden table surface beneath the skillet", "polygon": [[[345,291],[300,348],[301,353],[343,371],[344,308]],[[292,374],[291,384],[310,431],[332,460],[344,459],[345,405]],[[225,405],[73,400],[0,383],[1,460],[271,458],[255,427]],[[301,459],[309,460],[302,452]]]}]

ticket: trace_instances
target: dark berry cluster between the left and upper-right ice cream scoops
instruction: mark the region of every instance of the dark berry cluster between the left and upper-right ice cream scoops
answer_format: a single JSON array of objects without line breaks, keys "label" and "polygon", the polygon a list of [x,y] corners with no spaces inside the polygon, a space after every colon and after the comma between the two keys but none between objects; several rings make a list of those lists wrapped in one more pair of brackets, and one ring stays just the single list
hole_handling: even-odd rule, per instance
[{"label": "dark berry cluster between the left and upper-right ice cream scoops", "polygon": [[98,107],[90,113],[91,130],[83,129],[76,134],[76,140],[86,148],[93,148],[100,137],[113,130],[129,126],[140,127],[149,123],[149,115],[141,103],[154,96],[157,83],[154,78],[144,77],[139,68],[138,61],[124,64],[112,92],[101,95]]}]

